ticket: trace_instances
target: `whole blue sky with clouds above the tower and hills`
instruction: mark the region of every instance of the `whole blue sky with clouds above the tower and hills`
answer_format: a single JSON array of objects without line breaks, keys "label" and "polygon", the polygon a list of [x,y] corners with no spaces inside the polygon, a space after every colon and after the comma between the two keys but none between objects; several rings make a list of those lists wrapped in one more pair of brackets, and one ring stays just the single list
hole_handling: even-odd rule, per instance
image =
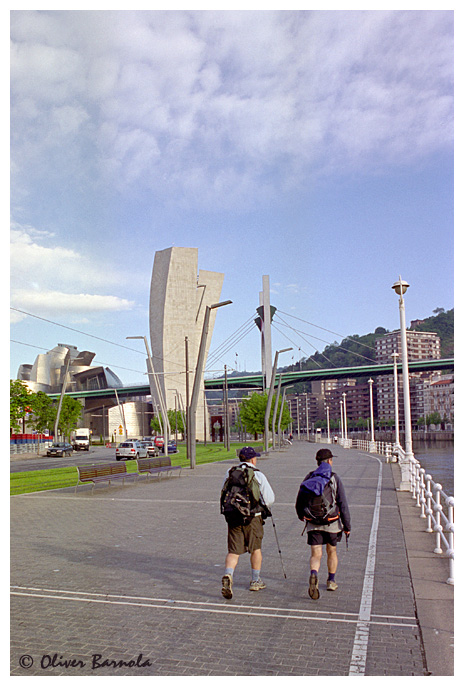
[{"label": "whole blue sky with clouds above the tower and hills", "polygon": [[260,371],[264,275],[281,364],[399,328],[400,275],[408,323],[454,307],[452,11],[10,19],[10,378],[68,343],[146,383],[171,246],[225,275],[212,376]]}]

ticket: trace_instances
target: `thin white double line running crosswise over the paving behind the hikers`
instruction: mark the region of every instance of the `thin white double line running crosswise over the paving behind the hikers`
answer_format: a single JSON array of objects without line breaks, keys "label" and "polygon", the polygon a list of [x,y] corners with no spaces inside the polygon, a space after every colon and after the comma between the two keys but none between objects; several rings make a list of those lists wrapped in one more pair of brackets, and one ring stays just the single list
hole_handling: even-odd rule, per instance
[{"label": "thin white double line running crosswise over the paving behind the hikers", "polygon": [[[85,593],[82,591],[61,591],[58,589],[28,588],[12,586],[11,595],[27,596],[31,598],[45,598],[50,600],[68,600],[74,602],[103,603],[110,605],[132,605],[135,607],[151,607],[165,610],[181,610],[184,612],[209,612],[213,614],[252,615],[255,617],[276,617],[279,619],[297,619],[304,621],[339,622],[356,624],[355,613],[352,612],[324,612],[315,610],[300,610],[298,608],[279,608],[255,605],[234,605],[228,607],[224,603],[202,603],[192,600],[174,600],[172,598],[148,598],[144,596],[123,596],[106,593]],[[350,618],[351,617],[351,618]],[[385,617],[388,619],[388,616]],[[415,628],[416,624],[398,622],[401,618],[391,617],[393,621],[371,621],[370,624],[381,626],[401,626]],[[413,618],[405,618],[407,620]]]}]

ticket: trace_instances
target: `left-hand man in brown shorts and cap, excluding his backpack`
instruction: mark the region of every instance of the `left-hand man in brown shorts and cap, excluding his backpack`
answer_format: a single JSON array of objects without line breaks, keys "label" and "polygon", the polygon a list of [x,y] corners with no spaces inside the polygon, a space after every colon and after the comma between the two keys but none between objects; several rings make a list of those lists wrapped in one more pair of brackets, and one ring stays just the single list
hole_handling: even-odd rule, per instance
[{"label": "left-hand man in brown shorts and cap, excluding his backpack", "polygon": [[[222,595],[228,600],[232,598],[233,575],[239,556],[246,552],[250,553],[251,562],[250,591],[260,591],[266,588],[266,584],[260,576],[263,559],[261,552],[261,543],[264,535],[263,516],[266,516],[266,510],[274,503],[275,496],[269,481],[256,467],[257,457],[259,457],[259,453],[250,446],[242,448],[239,454],[240,468],[246,469],[251,467],[254,471],[254,479],[259,485],[260,499],[259,505],[256,508],[257,511],[253,511],[251,518],[247,518],[245,522],[241,520],[239,515],[234,516],[232,514],[226,516],[228,553],[225,561],[224,576],[222,577]],[[236,469],[237,467],[234,466],[227,471],[223,484],[223,493],[229,475]]]}]

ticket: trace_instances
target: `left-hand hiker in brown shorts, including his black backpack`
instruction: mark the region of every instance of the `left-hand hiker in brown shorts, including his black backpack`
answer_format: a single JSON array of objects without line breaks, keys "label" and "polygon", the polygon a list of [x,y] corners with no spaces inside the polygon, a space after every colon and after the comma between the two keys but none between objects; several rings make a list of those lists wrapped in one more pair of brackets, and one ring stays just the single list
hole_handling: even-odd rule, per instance
[{"label": "left-hand hiker in brown shorts, including his black backpack", "polygon": [[261,579],[264,520],[270,516],[274,492],[264,474],[256,467],[259,453],[245,446],[239,454],[240,464],[226,474],[221,491],[221,514],[227,522],[227,549],[222,595],[232,598],[232,583],[240,555],[250,553],[250,591],[266,588]]}]

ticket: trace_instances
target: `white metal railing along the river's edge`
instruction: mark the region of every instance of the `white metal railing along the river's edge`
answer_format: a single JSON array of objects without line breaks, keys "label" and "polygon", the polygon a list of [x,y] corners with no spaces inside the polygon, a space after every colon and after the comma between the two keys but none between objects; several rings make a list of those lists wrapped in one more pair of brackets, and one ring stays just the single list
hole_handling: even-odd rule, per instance
[{"label": "white metal railing along the river's edge", "polygon": [[[435,549],[437,555],[443,554],[449,558],[449,577],[447,584],[454,585],[454,498],[447,495],[443,486],[436,483],[427,474],[419,460],[415,457],[406,458],[403,448],[399,445],[380,441],[366,441],[351,438],[339,439],[344,448],[355,448],[369,453],[385,455],[387,462],[399,461],[400,465],[409,465],[410,491],[416,507],[420,508],[421,519],[427,519],[427,533],[435,533]],[[446,512],[445,512],[446,509]]]}]

